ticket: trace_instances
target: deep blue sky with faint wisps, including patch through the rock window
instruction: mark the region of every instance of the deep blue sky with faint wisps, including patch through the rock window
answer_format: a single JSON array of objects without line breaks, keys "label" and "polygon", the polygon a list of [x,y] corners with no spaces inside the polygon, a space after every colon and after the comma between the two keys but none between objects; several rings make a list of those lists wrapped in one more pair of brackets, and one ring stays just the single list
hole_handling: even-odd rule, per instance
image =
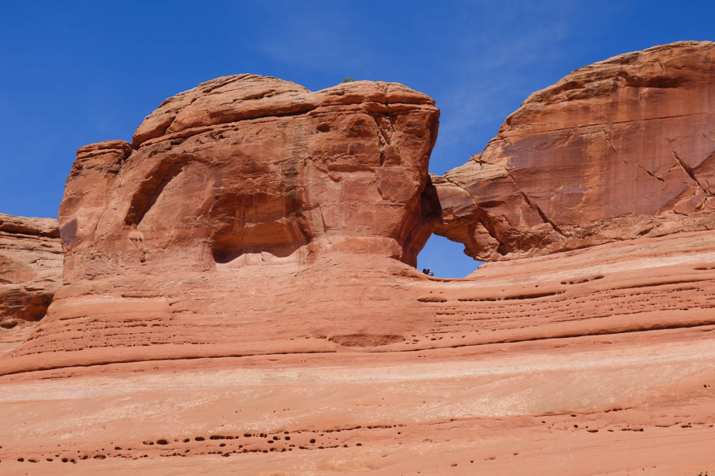
[{"label": "deep blue sky with faint wisps, including patch through the rock window", "polygon": [[[530,93],[580,66],[715,40],[715,1],[6,1],[0,212],[56,217],[77,148],[131,140],[164,98],[227,74],[312,90],[397,81],[435,98],[430,171],[480,152]],[[433,237],[419,266],[475,262]]]}]

